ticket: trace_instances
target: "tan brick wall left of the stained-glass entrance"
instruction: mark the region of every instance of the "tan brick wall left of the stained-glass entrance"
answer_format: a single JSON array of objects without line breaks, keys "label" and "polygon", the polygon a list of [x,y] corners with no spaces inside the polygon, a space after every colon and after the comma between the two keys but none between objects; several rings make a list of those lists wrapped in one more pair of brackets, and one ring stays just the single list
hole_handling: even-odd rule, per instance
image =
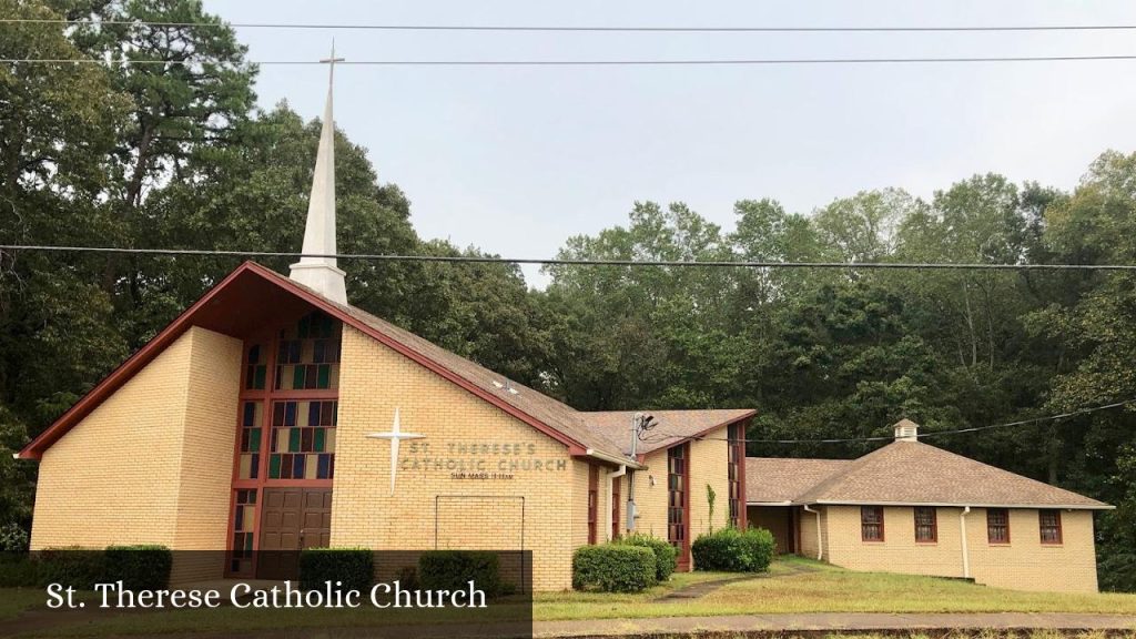
[{"label": "tan brick wall left of the stained-glass entrance", "polygon": [[32,548],[224,548],[240,359],[239,340],[191,329],[51,446]]}]

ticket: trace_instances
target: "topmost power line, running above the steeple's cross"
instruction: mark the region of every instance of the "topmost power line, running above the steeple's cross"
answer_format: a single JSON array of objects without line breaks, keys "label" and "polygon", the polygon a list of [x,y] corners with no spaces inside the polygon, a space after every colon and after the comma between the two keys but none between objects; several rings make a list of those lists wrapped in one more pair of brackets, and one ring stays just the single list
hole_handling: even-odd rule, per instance
[{"label": "topmost power line, running above the steeple's cross", "polygon": [[481,32],[591,32],[591,33],[966,33],[1046,31],[1133,31],[1136,25],[959,25],[959,26],[552,26],[552,25],[442,25],[442,24],[343,24],[343,23],[200,23],[151,20],[67,20],[49,18],[2,18],[8,24],[59,24],[65,26],[152,26],[161,28],[282,28],[340,31],[481,31]]}]

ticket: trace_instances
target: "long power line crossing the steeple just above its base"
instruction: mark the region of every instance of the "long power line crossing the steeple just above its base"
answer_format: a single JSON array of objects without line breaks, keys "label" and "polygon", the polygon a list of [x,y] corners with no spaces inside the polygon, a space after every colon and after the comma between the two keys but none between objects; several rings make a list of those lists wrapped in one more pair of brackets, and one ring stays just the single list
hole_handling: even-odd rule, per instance
[{"label": "long power line crossing the steeple just above its base", "polygon": [[912,262],[775,262],[775,260],[684,260],[684,259],[574,259],[528,258],[467,255],[398,255],[398,254],[308,254],[287,251],[239,251],[206,249],[132,249],[116,247],[58,247],[43,244],[0,244],[7,251],[86,252],[118,255],[152,255],[175,257],[317,257],[362,259],[371,262],[442,262],[469,264],[538,264],[551,266],[663,266],[696,268],[846,268],[846,269],[926,269],[926,271],[1136,271],[1134,264],[952,264]]}]

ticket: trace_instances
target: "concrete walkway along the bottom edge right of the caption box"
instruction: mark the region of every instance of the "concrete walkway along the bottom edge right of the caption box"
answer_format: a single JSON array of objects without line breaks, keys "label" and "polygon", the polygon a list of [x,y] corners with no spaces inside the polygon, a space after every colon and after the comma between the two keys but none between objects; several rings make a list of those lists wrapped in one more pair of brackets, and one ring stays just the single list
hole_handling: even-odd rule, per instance
[{"label": "concrete walkway along the bottom edge right of the caption box", "polygon": [[1083,613],[810,613],[716,617],[541,621],[534,637],[658,637],[660,634],[729,636],[785,632],[872,632],[911,630],[1126,630],[1136,631],[1136,616]]}]

